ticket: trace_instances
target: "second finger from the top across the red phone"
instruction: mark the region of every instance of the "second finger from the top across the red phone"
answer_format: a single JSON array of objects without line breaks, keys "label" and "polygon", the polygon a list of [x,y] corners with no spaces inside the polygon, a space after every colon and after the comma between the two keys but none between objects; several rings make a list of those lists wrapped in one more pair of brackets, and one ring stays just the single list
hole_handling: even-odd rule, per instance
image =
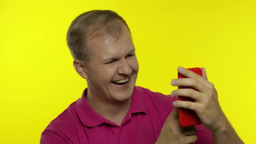
[{"label": "second finger from the top across the red phone", "polygon": [[171,85],[173,86],[185,86],[185,87],[193,87],[199,92],[206,92],[208,87],[204,85],[202,82],[197,79],[192,78],[183,78],[183,79],[173,79],[171,81]]}]

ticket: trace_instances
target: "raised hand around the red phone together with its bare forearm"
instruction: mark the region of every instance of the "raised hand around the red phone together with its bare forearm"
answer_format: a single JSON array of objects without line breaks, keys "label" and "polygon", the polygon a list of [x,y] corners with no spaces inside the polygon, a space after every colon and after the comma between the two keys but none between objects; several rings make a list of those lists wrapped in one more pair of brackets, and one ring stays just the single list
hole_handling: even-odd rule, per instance
[{"label": "raised hand around the red phone together with its bare forearm", "polygon": [[173,105],[194,110],[202,124],[212,131],[214,144],[244,144],[221,110],[217,91],[208,81],[205,69],[201,69],[202,76],[183,67],[178,68],[178,72],[187,78],[174,79],[171,85],[193,87],[195,90],[177,89],[172,96],[190,97],[195,101],[174,101]]}]

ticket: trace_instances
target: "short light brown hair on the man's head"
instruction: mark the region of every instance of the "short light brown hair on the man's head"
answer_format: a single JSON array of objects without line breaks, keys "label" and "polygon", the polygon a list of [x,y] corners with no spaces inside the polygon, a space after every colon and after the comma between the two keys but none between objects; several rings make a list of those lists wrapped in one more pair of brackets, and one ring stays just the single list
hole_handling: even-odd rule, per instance
[{"label": "short light brown hair on the man's head", "polygon": [[67,33],[67,44],[73,58],[89,63],[87,40],[100,35],[118,39],[121,35],[120,21],[130,32],[125,20],[111,10],[92,10],[77,16]]}]

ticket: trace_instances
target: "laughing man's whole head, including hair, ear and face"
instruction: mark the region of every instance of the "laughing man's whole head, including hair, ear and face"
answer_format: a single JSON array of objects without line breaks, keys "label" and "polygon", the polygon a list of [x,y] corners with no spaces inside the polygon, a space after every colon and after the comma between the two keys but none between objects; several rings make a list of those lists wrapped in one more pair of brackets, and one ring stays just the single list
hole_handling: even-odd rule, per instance
[{"label": "laughing man's whole head, including hair, ear and face", "polygon": [[81,14],[69,27],[67,43],[91,95],[108,101],[131,97],[138,61],[130,29],[121,16],[110,10]]}]

